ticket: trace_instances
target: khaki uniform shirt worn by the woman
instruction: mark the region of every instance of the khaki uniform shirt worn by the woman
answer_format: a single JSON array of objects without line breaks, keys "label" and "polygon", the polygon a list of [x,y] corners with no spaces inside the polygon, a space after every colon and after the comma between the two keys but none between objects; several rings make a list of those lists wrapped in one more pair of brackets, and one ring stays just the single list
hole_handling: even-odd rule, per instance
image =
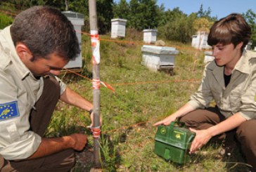
[{"label": "khaki uniform shirt worn by the woman", "polygon": [[244,51],[234,67],[228,86],[224,84],[224,67],[215,60],[207,64],[198,91],[188,104],[204,108],[215,100],[224,117],[239,113],[245,119],[256,119],[256,53]]}]

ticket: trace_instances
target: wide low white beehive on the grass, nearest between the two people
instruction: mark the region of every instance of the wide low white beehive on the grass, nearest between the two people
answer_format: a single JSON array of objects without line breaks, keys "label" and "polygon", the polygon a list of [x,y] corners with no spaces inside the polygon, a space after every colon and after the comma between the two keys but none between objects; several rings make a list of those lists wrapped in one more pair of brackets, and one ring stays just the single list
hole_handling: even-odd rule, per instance
[{"label": "wide low white beehive on the grass, nearest between the two people", "polygon": [[179,53],[175,48],[168,46],[148,46],[141,47],[141,64],[150,70],[169,70],[174,69],[174,58]]}]

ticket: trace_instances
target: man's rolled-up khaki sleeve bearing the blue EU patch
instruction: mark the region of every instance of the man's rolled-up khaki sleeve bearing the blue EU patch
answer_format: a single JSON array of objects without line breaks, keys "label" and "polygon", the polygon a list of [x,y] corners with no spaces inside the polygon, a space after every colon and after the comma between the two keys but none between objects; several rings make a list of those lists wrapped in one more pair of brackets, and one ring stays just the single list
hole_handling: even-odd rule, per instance
[{"label": "man's rolled-up khaki sleeve bearing the blue EU patch", "polygon": [[13,79],[0,71],[0,154],[8,160],[30,157],[41,143],[41,137],[29,131],[31,105],[18,93]]}]

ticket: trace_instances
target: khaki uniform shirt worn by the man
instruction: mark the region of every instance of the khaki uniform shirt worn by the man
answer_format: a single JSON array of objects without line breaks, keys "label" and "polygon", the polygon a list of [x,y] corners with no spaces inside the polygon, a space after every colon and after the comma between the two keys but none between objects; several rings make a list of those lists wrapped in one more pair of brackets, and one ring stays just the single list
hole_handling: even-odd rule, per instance
[{"label": "khaki uniform shirt worn by the man", "polygon": [[[6,27],[0,32],[0,155],[4,159],[26,159],[39,147],[41,137],[29,131],[29,117],[43,88],[43,77],[35,79],[25,67]],[[60,94],[63,91],[65,84],[60,81]]]}]

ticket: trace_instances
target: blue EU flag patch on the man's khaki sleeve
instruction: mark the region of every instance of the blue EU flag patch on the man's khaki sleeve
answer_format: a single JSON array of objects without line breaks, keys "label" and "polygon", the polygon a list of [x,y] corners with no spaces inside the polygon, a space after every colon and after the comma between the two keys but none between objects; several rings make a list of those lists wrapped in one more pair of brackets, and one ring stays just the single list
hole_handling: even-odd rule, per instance
[{"label": "blue EU flag patch on the man's khaki sleeve", "polygon": [[0,104],[0,121],[15,117],[20,117],[17,101]]}]

